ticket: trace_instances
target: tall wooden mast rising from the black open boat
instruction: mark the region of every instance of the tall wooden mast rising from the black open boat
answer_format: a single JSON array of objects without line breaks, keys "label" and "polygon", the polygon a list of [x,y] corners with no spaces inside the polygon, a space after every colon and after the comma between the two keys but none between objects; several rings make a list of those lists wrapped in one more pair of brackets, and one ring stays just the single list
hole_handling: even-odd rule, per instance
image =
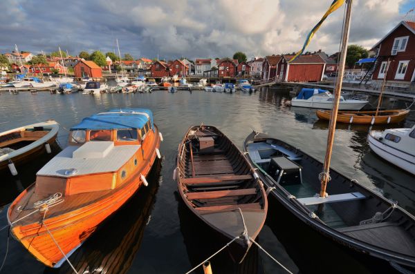
[{"label": "tall wooden mast rising from the black open boat", "polygon": [[324,158],[323,172],[320,174],[320,177],[319,177],[320,182],[321,182],[320,197],[327,196],[326,187],[330,179],[329,173],[330,173],[331,152],[333,150],[335,123],[337,121],[337,115],[338,115],[338,110],[339,110],[340,91],[342,90],[342,84],[343,84],[344,63],[346,63],[347,43],[349,41],[349,29],[350,29],[352,2],[353,0],[347,0],[346,17],[344,18],[342,42],[341,42],[341,49],[340,49],[340,66],[338,70],[338,79],[335,83],[333,109],[331,110],[331,113],[330,113],[330,124],[329,124],[329,134],[327,136],[326,157]]}]

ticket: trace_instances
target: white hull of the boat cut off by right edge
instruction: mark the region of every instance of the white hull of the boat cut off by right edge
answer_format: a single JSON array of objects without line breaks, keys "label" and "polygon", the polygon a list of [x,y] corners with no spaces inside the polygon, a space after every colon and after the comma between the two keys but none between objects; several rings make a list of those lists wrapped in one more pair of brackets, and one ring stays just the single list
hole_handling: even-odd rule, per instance
[{"label": "white hull of the boat cut off by right edge", "polygon": [[415,175],[415,155],[410,155],[402,150],[383,144],[382,141],[379,141],[371,134],[369,134],[367,141],[369,142],[369,146],[374,153],[388,162],[391,162],[395,166],[398,166]]}]

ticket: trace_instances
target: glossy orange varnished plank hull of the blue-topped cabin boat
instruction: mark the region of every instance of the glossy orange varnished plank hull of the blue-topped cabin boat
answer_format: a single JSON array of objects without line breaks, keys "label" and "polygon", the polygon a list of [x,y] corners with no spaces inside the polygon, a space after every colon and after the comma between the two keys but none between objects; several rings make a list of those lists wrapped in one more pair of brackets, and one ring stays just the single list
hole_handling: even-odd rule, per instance
[{"label": "glossy orange varnished plank hull of the blue-topped cabin boat", "polygon": [[[13,222],[16,222],[16,220],[11,219],[10,215],[12,211],[16,210],[17,203],[27,193],[33,191],[33,188],[35,188],[35,184],[33,184],[10,205],[8,220],[12,227],[12,234],[37,260],[46,264],[46,266],[59,266],[62,260],[64,260],[62,251],[66,255],[70,255],[75,251],[97,229],[104,219],[116,212],[142,186],[143,182],[140,179],[140,174],[146,177],[157,157],[156,148],[160,146],[158,130],[154,133],[154,143],[152,144],[154,146],[151,146],[150,143],[147,144],[145,162],[142,168],[137,170],[135,175],[131,176],[129,182],[112,190],[111,195],[105,195],[96,202],[81,208],[75,208],[73,211],[67,211],[62,215],[54,217],[46,215],[43,221],[44,224],[41,220],[25,225],[19,225],[19,222],[17,222],[14,225]],[[149,147],[152,149],[148,149]],[[39,215],[39,213],[34,215]],[[55,242],[57,242],[62,251],[59,250]]]}]

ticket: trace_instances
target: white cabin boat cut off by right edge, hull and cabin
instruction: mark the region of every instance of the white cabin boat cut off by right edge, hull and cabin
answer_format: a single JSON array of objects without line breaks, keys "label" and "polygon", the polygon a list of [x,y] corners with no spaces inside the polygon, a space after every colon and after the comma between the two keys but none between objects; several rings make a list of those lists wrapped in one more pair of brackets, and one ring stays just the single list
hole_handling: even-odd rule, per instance
[{"label": "white cabin boat cut off by right edge, hull and cabin", "polygon": [[371,130],[367,141],[374,153],[415,175],[415,126]]}]

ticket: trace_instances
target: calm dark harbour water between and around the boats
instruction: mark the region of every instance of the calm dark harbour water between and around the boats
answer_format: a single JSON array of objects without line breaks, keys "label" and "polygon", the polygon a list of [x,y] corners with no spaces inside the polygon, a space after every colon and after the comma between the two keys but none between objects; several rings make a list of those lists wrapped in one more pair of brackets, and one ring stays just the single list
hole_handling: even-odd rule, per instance
[{"label": "calm dark harbour water between and around the boats", "polygon": [[[0,130],[55,119],[62,125],[58,141],[64,147],[68,138],[66,128],[93,113],[128,107],[153,110],[154,120],[164,137],[160,148],[164,159],[154,168],[150,186],[140,190],[104,222],[70,260],[81,273],[185,273],[221,246],[216,244],[210,231],[187,212],[176,193],[172,173],[178,143],[189,126],[203,122],[219,127],[240,148],[244,138],[255,129],[284,139],[317,159],[324,159],[328,123],[318,121],[315,110],[284,106],[282,103],[286,99],[289,99],[287,90],[268,89],[252,94],[156,91],[98,96],[50,95],[48,92],[10,95],[3,92],[0,96]],[[374,106],[375,100],[371,99]],[[385,106],[402,108],[405,103],[385,100]],[[405,123],[396,126],[410,127],[414,123],[415,115],[411,112]],[[415,213],[414,177],[371,153],[367,144],[368,131],[369,126],[338,126],[332,166]],[[0,228],[7,224],[7,204],[34,182],[36,170],[47,160],[42,158],[37,164],[25,168],[18,178],[1,177],[0,204],[5,206],[0,208]],[[297,238],[290,223],[278,219],[278,212],[270,208],[259,243],[294,273],[314,273],[315,260],[321,259],[322,255],[326,257],[327,273],[367,272],[360,262],[335,247],[319,251],[313,239],[291,240]],[[0,263],[7,242],[8,231],[5,229],[0,232]],[[299,250],[309,256],[300,256]],[[251,248],[246,262],[239,266],[232,264],[225,252],[211,262],[215,274],[285,273],[257,248]],[[71,273],[71,268],[66,263],[58,269],[45,268],[10,237],[3,273]]]}]

